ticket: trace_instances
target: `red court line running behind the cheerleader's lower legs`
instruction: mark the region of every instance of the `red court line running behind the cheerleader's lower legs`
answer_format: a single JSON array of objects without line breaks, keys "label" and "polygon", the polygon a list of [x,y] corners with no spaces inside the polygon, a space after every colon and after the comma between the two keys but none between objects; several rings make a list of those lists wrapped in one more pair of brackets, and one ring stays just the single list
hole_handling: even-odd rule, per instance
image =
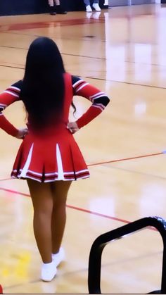
[{"label": "red court line running behind the cheerleader's lower legs", "polygon": [[[4,187],[0,187],[0,190],[4,191],[4,192],[9,192],[11,194],[19,194],[20,196],[28,196],[28,197],[30,197],[30,194],[17,192],[17,191],[14,191],[13,189],[5,189]],[[89,213],[89,214],[92,214],[92,215],[97,215],[97,216],[100,216],[100,217],[103,217],[103,218],[108,218],[108,219],[111,219],[111,220],[116,220],[116,221],[120,221],[120,222],[127,223],[127,224],[130,223],[130,221],[128,221],[128,220],[125,220],[125,219],[122,219],[122,218],[116,218],[116,217],[106,215],[106,214],[102,214],[102,213],[98,213],[98,212],[95,212],[95,211],[90,211],[88,209],[79,208],[79,207],[68,205],[68,204],[66,205],[66,207],[77,210],[77,211],[82,211],[82,212],[85,212],[85,213]],[[156,229],[153,228],[153,227],[148,227],[148,228],[150,230],[155,230],[156,231]]]}]

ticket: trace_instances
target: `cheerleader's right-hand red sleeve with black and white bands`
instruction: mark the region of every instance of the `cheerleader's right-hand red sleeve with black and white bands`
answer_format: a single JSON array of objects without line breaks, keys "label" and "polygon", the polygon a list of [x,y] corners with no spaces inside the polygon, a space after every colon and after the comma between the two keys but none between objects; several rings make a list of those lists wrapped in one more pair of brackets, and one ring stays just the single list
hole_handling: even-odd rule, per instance
[{"label": "cheerleader's right-hand red sleeve with black and white bands", "polygon": [[108,105],[110,99],[104,92],[85,82],[79,77],[72,76],[73,94],[83,96],[91,101],[88,110],[76,121],[79,129],[94,120]]}]

